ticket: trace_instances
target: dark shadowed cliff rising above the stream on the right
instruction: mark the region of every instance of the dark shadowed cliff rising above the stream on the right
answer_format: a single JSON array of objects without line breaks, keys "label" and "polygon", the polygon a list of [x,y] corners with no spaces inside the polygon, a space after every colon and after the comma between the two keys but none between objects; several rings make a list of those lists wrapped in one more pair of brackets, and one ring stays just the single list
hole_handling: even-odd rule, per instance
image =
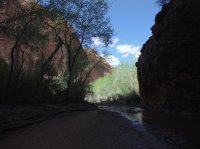
[{"label": "dark shadowed cliff rising above the stream on the right", "polygon": [[199,0],[172,0],[156,16],[136,64],[141,97],[152,110],[200,112],[199,8]]}]

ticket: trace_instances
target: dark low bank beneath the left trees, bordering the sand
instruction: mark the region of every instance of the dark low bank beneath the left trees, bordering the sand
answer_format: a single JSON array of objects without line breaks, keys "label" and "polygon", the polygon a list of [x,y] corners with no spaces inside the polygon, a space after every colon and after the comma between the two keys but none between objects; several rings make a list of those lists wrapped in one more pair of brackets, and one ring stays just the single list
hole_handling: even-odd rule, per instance
[{"label": "dark low bank beneath the left trees, bordering the sand", "polygon": [[96,109],[96,106],[87,102],[62,105],[0,105],[0,133],[39,123],[61,113]]}]

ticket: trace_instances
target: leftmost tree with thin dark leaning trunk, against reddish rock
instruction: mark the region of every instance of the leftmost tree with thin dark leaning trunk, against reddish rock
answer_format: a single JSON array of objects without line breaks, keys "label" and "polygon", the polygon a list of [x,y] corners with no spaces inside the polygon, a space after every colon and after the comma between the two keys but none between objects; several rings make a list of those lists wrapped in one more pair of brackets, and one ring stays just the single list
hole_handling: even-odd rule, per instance
[{"label": "leftmost tree with thin dark leaning trunk, against reddish rock", "polygon": [[[40,0],[35,1],[35,3],[30,3],[30,5],[25,8],[20,7],[19,10],[14,10],[16,14],[4,14],[4,19],[0,22],[0,29],[3,30],[3,32],[13,40],[13,47],[10,49],[10,70],[5,89],[5,99],[7,98],[15,70],[19,69],[16,75],[19,76],[23,68],[24,53],[26,52],[26,48],[22,49],[22,46],[26,46],[31,49],[30,47],[34,46],[32,43],[35,41],[38,43],[37,45],[39,45],[41,40],[40,37],[43,36],[39,31],[39,22],[41,23],[39,20],[43,19],[39,18],[38,14],[36,13],[38,12],[36,10],[38,9],[37,6],[39,1]],[[20,54],[17,54],[18,52],[21,52],[20,66],[18,63],[16,63],[19,62]],[[15,78],[15,80],[17,80],[17,78]]]}]

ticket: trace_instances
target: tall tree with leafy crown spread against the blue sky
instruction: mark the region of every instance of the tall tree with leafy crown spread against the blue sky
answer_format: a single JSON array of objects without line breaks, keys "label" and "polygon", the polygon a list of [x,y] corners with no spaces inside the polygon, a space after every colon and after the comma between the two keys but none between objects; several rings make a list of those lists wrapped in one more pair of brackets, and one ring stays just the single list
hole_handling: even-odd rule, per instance
[{"label": "tall tree with leafy crown spread against the blue sky", "polygon": [[105,45],[111,42],[113,29],[106,15],[109,4],[106,0],[49,0],[45,7],[56,20],[49,22],[49,26],[66,49],[69,98],[80,53],[91,45],[93,37],[98,37]]}]

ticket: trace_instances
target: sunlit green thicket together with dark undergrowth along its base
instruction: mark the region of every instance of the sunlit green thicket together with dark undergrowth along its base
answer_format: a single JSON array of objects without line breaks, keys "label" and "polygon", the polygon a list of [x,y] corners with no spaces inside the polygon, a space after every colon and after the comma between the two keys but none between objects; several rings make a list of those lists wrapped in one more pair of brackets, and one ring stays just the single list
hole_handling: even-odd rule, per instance
[{"label": "sunlit green thicket together with dark undergrowth along its base", "polygon": [[122,63],[113,68],[112,74],[91,83],[92,93],[86,100],[93,103],[138,104],[139,87],[134,63]]}]

